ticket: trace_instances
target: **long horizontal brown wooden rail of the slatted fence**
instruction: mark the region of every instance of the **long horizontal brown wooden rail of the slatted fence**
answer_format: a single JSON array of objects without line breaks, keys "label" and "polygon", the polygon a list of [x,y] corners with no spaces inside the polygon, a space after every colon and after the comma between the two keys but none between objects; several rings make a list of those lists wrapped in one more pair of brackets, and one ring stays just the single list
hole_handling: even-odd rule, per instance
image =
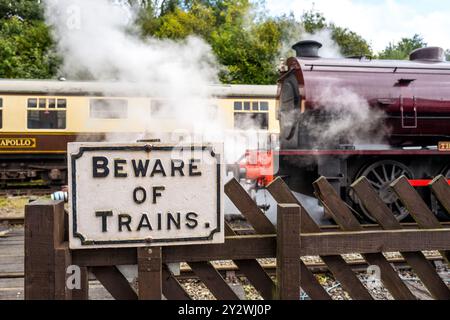
[{"label": "long horizontal brown wooden rail of the slatted fence", "polygon": [[[299,257],[355,252],[433,251],[450,247],[450,229],[311,233],[301,234],[300,239]],[[275,256],[276,235],[227,237],[224,244],[162,249],[164,263],[262,259]],[[137,263],[135,249],[75,250],[72,251],[72,260],[79,266]]]}]

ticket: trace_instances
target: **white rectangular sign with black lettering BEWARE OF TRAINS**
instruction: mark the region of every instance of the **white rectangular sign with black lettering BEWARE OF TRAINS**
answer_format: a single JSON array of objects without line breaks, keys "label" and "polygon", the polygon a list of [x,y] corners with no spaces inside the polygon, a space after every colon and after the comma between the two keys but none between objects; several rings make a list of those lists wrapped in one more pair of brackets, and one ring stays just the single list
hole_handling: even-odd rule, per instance
[{"label": "white rectangular sign with black lettering BEWARE OF TRAINS", "polygon": [[70,248],[223,243],[223,145],[70,143]]}]

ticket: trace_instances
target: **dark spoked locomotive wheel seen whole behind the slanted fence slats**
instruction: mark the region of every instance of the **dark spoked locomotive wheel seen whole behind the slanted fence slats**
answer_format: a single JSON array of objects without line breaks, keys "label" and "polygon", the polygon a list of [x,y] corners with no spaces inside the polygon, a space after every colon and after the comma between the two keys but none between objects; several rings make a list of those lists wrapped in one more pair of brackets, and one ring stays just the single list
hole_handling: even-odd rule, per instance
[{"label": "dark spoked locomotive wheel seen whole behind the slanted fence slats", "polygon": [[[407,166],[392,160],[378,161],[366,167],[358,174],[358,178],[362,176],[367,178],[398,221],[404,220],[409,215],[408,210],[390,188],[390,184],[401,176],[406,176],[408,179],[413,178],[413,173]],[[364,218],[372,222],[377,222],[361,204],[355,194],[352,193],[351,197],[361,208]]]}]

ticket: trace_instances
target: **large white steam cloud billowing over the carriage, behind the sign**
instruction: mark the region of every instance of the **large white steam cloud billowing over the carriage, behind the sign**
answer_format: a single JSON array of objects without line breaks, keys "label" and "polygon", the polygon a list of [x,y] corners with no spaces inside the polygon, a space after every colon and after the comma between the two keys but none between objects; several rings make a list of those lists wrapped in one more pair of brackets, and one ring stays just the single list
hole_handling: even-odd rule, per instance
[{"label": "large white steam cloud billowing over the carriage, behind the sign", "polygon": [[[197,37],[143,39],[135,24],[138,10],[126,1],[44,0],[44,4],[47,23],[63,57],[65,78],[119,83],[101,88],[105,97],[159,100],[158,114],[151,114],[154,110],[148,110],[145,99],[130,104],[128,121],[115,122],[107,140],[222,141],[228,163],[253,147],[254,139],[247,136],[253,137],[254,132],[233,131],[223,108],[215,105],[213,85],[219,83],[221,67],[205,41]],[[148,111],[143,111],[143,105]],[[89,119],[85,127],[96,129],[98,121]],[[253,124],[247,127],[252,129]]]}]

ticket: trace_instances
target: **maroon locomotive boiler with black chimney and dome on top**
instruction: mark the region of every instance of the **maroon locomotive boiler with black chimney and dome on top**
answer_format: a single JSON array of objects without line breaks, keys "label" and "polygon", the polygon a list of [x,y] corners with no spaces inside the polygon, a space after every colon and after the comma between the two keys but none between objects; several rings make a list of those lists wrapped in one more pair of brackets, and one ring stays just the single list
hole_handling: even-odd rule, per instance
[{"label": "maroon locomotive boiler with black chimney and dome on top", "polygon": [[[302,141],[311,146],[317,143],[305,141],[311,134],[299,125],[311,125],[304,119],[317,121],[318,126],[330,117],[335,122],[347,119],[342,113],[355,113],[358,119],[364,110],[355,109],[364,109],[358,103],[365,102],[382,111],[383,119],[373,119],[372,115],[381,114],[367,110],[368,117],[363,120],[378,121],[379,127],[373,129],[383,130],[391,145],[431,146],[449,139],[450,63],[445,61],[443,49],[418,49],[409,61],[383,61],[365,57],[322,59],[318,56],[320,47],[315,41],[294,45],[297,57],[287,61],[287,72],[280,79],[282,149],[297,147]],[[364,134],[373,123],[354,125]],[[320,131],[318,126],[314,129]],[[357,131],[352,136],[358,138]]]}]

